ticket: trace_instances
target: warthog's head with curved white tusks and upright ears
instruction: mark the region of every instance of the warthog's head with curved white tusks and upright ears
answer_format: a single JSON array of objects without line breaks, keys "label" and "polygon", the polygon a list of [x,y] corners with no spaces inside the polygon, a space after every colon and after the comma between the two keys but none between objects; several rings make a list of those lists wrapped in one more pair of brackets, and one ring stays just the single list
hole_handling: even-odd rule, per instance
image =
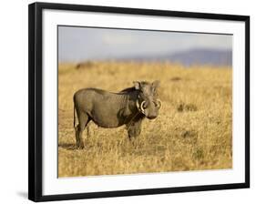
[{"label": "warthog's head with curved white tusks and upright ears", "polygon": [[158,98],[159,81],[154,81],[153,83],[135,81],[133,83],[135,89],[138,90],[138,99],[136,100],[138,111],[148,119],[158,117],[161,107],[161,101]]}]

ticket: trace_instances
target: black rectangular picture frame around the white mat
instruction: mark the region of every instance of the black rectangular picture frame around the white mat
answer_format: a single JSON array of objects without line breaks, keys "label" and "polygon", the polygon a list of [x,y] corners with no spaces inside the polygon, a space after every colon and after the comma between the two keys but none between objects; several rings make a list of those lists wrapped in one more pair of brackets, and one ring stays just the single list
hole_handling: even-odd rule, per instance
[{"label": "black rectangular picture frame around the white mat", "polygon": [[[167,10],[148,10],[125,7],[108,7],[94,5],[67,5],[34,3],[28,6],[28,199],[34,201],[64,200],[64,199],[92,199],[106,197],[135,196],[148,194],[162,194],[188,191],[243,189],[250,188],[250,16],[247,15],[219,15],[191,12],[177,12]],[[57,9],[68,11],[91,11],[128,15],[176,16],[199,19],[230,20],[245,23],[245,182],[189,186],[161,189],[132,189],[118,191],[104,191],[92,193],[77,193],[63,195],[42,195],[42,11]]]}]

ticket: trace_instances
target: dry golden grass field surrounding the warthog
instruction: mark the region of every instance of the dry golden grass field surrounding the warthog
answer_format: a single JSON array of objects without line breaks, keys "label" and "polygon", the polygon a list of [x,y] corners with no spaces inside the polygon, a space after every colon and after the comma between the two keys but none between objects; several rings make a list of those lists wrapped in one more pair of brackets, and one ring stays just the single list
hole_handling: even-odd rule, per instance
[{"label": "dry golden grass field surrounding the warthog", "polygon": [[[169,63],[89,62],[58,67],[58,176],[232,168],[232,69]],[[125,127],[84,131],[76,149],[73,95],[79,88],[118,92],[159,79],[159,117],[145,119],[132,145]]]}]

